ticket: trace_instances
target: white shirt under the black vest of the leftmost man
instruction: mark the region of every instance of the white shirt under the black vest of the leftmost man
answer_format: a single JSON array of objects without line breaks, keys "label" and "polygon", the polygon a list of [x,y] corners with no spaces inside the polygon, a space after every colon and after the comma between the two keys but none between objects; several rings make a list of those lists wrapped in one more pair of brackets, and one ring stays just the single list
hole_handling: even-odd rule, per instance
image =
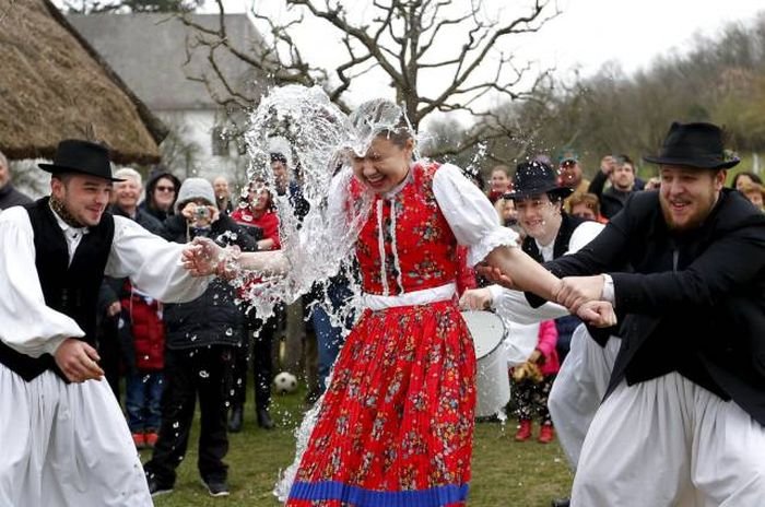
[{"label": "white shirt under the black vest of the leftmost man", "polygon": [[[114,219],[107,276],[129,276],[141,291],[166,303],[191,300],[204,292],[210,278],[192,278],[183,268],[184,245],[168,243],[123,216]],[[57,220],[71,262],[87,228]],[[38,357],[52,354],[64,339],[84,334],[72,318],[46,306],[30,215],[22,207],[7,209],[0,213],[0,340],[22,354]]]}]

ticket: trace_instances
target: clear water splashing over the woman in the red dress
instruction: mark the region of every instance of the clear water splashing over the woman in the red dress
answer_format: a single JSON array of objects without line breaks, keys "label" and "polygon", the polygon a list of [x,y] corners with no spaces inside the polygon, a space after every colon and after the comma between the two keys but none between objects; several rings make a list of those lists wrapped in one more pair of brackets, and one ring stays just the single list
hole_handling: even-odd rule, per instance
[{"label": "clear water splashing over the woman in the red dress", "polygon": [[[366,213],[360,205],[349,216],[342,207],[332,210],[328,202],[332,178],[341,189],[352,177],[342,150],[353,142],[352,132],[348,116],[319,87],[274,89],[249,117],[245,134],[250,158],[248,179],[275,190],[272,194],[280,220],[282,254],[290,266],[283,275],[263,275],[257,283],[244,278],[234,282],[243,287],[245,305],[261,319],[272,315],[274,302],[291,303],[309,292],[315,282],[351,266],[353,244]],[[287,160],[299,167],[299,176],[293,178],[292,185],[299,186],[308,203],[302,220],[294,189],[284,188],[271,169],[270,152],[276,145],[280,151],[289,150]],[[346,305],[346,311],[353,306]],[[333,322],[343,320],[332,317]]]}]

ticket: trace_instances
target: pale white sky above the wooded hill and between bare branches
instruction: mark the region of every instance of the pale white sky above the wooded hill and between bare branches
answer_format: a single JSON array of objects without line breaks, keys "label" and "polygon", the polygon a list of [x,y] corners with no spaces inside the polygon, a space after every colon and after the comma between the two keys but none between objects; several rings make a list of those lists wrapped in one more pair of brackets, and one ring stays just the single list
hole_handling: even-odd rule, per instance
[{"label": "pale white sky above the wooded hill and between bare branches", "polygon": [[[315,0],[323,4],[327,0]],[[329,0],[334,3],[336,0]],[[341,0],[349,9],[364,11],[372,0]],[[501,19],[516,17],[519,9],[528,9],[533,0],[472,0],[482,1],[490,12]],[[212,0],[204,9],[217,12]],[[255,2],[255,3],[252,3]],[[467,9],[471,0],[451,0],[449,9]],[[227,12],[247,12],[252,5],[259,13],[271,19],[289,17],[284,0],[224,0]],[[511,51],[520,62],[532,61],[536,69],[555,69],[554,76],[567,83],[574,81],[575,69],[586,78],[595,74],[605,62],[615,62],[627,74],[646,69],[651,61],[670,50],[682,54],[693,46],[694,37],[713,37],[731,22],[751,23],[758,12],[765,13],[763,0],[552,0],[560,15],[549,21],[543,28],[529,36],[506,38],[505,50]],[[309,15],[306,17],[310,17]],[[331,40],[332,31],[326,22],[304,22],[292,34],[304,49],[311,63],[333,69],[344,61],[345,51],[338,42]],[[258,25],[262,31],[264,25]],[[317,44],[318,42],[318,44]],[[337,47],[337,50],[332,50]],[[482,72],[493,74],[493,66],[482,66]],[[536,72],[534,72],[536,73]],[[431,74],[421,79],[421,93],[437,96],[443,91],[438,83],[446,74]],[[528,89],[531,73],[519,90]],[[447,79],[451,79],[451,74]],[[491,79],[494,79],[491,75]],[[485,79],[484,79],[485,80]],[[380,73],[363,78],[361,85],[344,95],[353,107],[372,97],[395,98],[389,79]],[[498,95],[482,99],[480,108],[491,107]],[[463,114],[462,116],[468,116]],[[470,122],[470,118],[452,116]],[[429,119],[436,119],[435,115]]]}]

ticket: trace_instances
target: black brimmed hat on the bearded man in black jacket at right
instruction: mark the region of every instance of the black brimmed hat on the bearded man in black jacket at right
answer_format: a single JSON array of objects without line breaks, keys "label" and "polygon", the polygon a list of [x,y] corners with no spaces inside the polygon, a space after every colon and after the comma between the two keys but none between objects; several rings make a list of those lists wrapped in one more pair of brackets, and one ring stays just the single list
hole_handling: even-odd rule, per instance
[{"label": "black brimmed hat on the bearded man in black jacket at right", "polygon": [[722,131],[711,123],[672,122],[661,152],[657,156],[644,156],[652,164],[671,164],[701,169],[727,169],[740,161],[726,156]]}]

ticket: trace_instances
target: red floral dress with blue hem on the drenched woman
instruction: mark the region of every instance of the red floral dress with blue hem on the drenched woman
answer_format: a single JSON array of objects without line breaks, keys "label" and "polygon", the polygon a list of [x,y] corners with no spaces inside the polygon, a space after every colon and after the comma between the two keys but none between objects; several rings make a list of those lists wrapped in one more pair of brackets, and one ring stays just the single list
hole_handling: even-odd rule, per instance
[{"label": "red floral dress with blue hem on the drenched woman", "polygon": [[[455,282],[457,241],[433,192],[437,170],[415,165],[395,196],[375,197],[356,245],[366,294]],[[455,296],[367,308],[334,365],[286,505],[464,505],[474,376]]]}]

